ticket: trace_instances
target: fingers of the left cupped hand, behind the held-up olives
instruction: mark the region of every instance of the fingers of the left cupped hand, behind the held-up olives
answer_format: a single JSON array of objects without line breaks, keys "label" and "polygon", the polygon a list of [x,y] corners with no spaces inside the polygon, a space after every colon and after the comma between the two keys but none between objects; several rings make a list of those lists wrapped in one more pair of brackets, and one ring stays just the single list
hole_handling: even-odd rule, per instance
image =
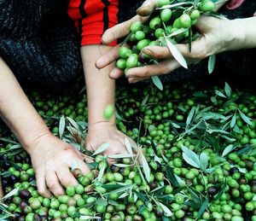
[{"label": "fingers of the left cupped hand, behind the held-up olives", "polygon": [[[156,7],[157,0],[146,0],[143,5],[137,9],[137,15],[131,18],[131,20],[126,20],[123,23],[120,23],[112,28],[109,28],[104,34],[102,35],[102,43],[103,44],[110,44],[114,40],[119,38],[123,38],[130,32],[130,26],[135,21],[144,22],[148,20],[149,15],[154,11]],[[113,61],[116,61],[119,58],[119,47],[120,45],[115,46],[112,50],[108,53],[102,55],[96,61],[96,67],[102,69],[103,67],[107,67]],[[118,79],[123,75],[123,72],[118,68],[114,68],[113,71],[109,74],[111,79]]]}]

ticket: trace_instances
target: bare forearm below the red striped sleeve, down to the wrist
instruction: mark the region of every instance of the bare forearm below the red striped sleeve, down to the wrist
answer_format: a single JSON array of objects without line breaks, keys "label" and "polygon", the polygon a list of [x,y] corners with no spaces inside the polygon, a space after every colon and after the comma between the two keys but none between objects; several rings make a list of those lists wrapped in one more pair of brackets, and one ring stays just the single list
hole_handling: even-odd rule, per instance
[{"label": "bare forearm below the red striped sleeve, down to the wrist", "polygon": [[[103,45],[89,45],[81,49],[88,97],[89,125],[105,121],[102,116],[104,108],[108,104],[114,105],[115,83],[108,77],[113,64],[101,70],[95,67],[96,60],[109,49],[111,47]],[[111,122],[114,123],[114,117]]]}]

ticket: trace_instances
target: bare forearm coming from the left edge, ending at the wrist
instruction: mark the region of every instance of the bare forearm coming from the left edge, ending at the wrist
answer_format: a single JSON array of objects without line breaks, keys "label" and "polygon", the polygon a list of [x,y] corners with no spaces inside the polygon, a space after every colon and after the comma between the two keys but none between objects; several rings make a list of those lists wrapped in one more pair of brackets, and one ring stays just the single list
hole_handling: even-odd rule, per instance
[{"label": "bare forearm coming from the left edge, ending at the wrist", "polygon": [[0,58],[0,115],[24,148],[49,130],[20,88],[9,67]]}]

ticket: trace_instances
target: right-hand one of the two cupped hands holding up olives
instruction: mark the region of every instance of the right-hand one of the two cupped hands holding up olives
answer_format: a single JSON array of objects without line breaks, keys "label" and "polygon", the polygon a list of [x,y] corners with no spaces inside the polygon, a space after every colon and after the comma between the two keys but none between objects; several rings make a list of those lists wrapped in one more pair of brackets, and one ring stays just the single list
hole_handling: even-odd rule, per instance
[{"label": "right-hand one of the two cupped hands holding up olives", "polygon": [[[242,45],[241,39],[243,38],[241,37],[241,22],[237,23],[236,20],[228,20],[226,18],[201,16],[196,25],[198,32],[201,33],[201,38],[197,38],[192,43],[192,51],[189,52],[188,44],[176,44],[176,47],[188,63],[200,61],[209,55],[218,54],[226,50],[240,49]],[[171,73],[177,67],[180,67],[167,47],[148,46],[142,52],[162,61],[155,65],[131,68],[126,73],[130,83],[148,79],[153,75]],[[115,56],[115,59],[117,57],[118,55]],[[122,74],[118,68],[115,68],[110,73],[110,77],[118,79]]]}]

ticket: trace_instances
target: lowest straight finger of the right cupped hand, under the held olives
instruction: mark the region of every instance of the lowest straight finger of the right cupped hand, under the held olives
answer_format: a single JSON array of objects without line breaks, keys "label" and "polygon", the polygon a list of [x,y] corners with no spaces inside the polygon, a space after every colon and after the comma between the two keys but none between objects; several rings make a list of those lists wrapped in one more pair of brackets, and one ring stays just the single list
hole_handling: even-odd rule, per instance
[{"label": "lowest straight finger of the right cupped hand, under the held olives", "polygon": [[127,72],[127,75],[128,78],[149,78],[154,75],[171,73],[173,70],[177,69],[177,67],[180,67],[180,64],[176,60],[172,59],[162,61],[159,64],[131,68]]}]

